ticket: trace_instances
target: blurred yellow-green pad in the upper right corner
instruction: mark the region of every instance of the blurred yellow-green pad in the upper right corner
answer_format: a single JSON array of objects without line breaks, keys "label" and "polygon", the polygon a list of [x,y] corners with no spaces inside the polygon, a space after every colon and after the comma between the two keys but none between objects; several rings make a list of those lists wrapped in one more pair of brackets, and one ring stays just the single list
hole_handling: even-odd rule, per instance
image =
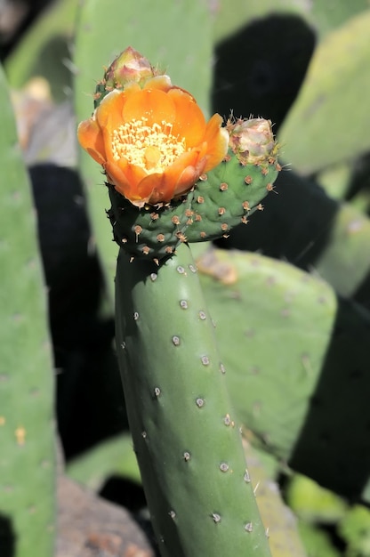
[{"label": "blurred yellow-green pad in the upper right corner", "polygon": [[370,56],[369,25],[370,10],[360,12],[318,45],[279,131],[284,157],[300,174],[318,173],[370,148],[367,97],[358,94],[370,88],[370,74],[365,70]]}]

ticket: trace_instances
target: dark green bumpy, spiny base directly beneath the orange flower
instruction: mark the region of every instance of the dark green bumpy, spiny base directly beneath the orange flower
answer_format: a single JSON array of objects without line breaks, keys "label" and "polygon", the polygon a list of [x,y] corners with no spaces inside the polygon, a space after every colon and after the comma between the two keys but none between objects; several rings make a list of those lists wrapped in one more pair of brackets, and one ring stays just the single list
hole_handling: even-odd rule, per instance
[{"label": "dark green bumpy, spiny base directly beneath the orange flower", "polygon": [[127,201],[113,186],[109,186],[112,203],[108,215],[114,238],[133,257],[159,260],[173,254],[181,242],[186,241],[190,204],[193,193],[170,206],[144,206],[139,209]]}]

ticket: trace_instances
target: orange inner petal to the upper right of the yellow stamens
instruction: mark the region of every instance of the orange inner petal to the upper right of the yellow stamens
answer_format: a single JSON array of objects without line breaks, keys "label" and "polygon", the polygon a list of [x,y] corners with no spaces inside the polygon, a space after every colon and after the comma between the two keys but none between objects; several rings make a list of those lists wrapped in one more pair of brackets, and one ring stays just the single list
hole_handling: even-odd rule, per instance
[{"label": "orange inner petal to the upper right of the yellow stamens", "polygon": [[173,135],[185,137],[187,147],[194,147],[205,134],[205,117],[195,99],[183,89],[173,87],[168,96],[176,107]]}]

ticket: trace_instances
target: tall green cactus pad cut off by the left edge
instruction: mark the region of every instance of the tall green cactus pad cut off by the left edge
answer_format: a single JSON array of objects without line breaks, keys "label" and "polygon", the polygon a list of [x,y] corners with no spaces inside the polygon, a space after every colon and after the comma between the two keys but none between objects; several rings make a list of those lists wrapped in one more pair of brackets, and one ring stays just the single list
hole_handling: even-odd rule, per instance
[{"label": "tall green cactus pad cut off by the left edge", "polygon": [[0,553],[50,557],[54,538],[52,358],[36,219],[0,71]]}]

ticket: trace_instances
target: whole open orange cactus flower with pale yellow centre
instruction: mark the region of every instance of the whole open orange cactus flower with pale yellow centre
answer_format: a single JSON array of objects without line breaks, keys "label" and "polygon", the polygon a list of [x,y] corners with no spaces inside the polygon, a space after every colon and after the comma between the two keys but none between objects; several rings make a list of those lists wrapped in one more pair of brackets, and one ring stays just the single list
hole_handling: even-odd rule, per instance
[{"label": "whole open orange cactus flower with pale yellow centre", "polygon": [[77,134],[109,183],[141,207],[187,193],[221,163],[229,145],[221,124],[218,114],[206,122],[190,93],[156,76],[107,94]]}]

